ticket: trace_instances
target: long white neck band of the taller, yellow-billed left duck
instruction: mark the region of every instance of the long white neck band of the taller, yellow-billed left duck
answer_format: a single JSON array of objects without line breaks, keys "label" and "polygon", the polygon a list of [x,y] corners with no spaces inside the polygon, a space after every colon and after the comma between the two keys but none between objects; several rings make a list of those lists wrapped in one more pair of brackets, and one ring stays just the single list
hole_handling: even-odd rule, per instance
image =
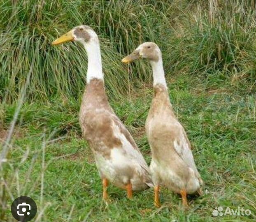
[{"label": "long white neck band of the taller, yellow-billed left duck", "polygon": [[88,55],[86,82],[89,83],[91,79],[95,78],[103,80],[100,44],[98,42],[84,43],[84,48]]}]

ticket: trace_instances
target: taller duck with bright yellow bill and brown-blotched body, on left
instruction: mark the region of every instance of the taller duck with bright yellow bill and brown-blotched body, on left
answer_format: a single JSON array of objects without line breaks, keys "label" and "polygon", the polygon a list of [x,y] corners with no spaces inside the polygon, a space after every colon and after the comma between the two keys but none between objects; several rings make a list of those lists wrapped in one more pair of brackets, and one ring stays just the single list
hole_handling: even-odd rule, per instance
[{"label": "taller duck with bright yellow bill and brown-blotched body, on left", "polygon": [[100,42],[96,32],[87,25],[79,25],[52,42],[79,42],[88,56],[86,88],[81,100],[79,124],[84,139],[95,157],[103,186],[103,199],[108,199],[107,187],[112,183],[133,191],[153,186],[149,166],[140,153],[130,132],[109,105],[105,91]]}]

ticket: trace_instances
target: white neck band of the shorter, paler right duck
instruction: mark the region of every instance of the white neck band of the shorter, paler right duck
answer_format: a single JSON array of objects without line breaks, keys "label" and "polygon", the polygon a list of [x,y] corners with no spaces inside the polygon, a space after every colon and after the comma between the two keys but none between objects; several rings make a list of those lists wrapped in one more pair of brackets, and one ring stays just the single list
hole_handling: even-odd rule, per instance
[{"label": "white neck band of the shorter, paler right duck", "polygon": [[163,70],[163,60],[160,56],[158,61],[150,61],[150,64],[153,69],[153,79],[154,83],[153,86],[156,86],[156,84],[162,84],[167,88],[166,81],[165,81],[165,72]]}]

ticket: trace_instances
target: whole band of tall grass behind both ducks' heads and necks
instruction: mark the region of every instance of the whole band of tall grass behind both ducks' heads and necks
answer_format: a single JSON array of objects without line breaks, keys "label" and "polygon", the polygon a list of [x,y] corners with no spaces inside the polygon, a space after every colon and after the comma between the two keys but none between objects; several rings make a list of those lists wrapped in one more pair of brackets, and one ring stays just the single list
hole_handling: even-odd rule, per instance
[{"label": "whole band of tall grass behind both ducks' heads and necks", "polygon": [[[17,99],[34,63],[28,98],[77,99],[84,89],[87,57],[76,44],[51,47],[76,25],[90,25],[101,40],[107,92],[112,98],[151,83],[149,65],[127,70],[120,60],[138,44],[156,42],[166,76],[189,73],[248,83],[256,79],[254,1],[1,1],[0,99]],[[127,74],[129,72],[129,75]],[[131,84],[133,81],[133,84]]]}]

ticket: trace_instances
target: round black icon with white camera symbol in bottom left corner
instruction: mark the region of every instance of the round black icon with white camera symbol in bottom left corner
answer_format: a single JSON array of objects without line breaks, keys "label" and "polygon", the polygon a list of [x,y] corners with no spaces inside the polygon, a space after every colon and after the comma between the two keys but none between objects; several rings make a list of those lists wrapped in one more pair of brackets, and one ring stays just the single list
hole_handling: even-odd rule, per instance
[{"label": "round black icon with white camera symbol in bottom left corner", "polygon": [[27,222],[35,217],[37,213],[37,205],[30,197],[18,197],[12,202],[11,212],[16,220]]}]

